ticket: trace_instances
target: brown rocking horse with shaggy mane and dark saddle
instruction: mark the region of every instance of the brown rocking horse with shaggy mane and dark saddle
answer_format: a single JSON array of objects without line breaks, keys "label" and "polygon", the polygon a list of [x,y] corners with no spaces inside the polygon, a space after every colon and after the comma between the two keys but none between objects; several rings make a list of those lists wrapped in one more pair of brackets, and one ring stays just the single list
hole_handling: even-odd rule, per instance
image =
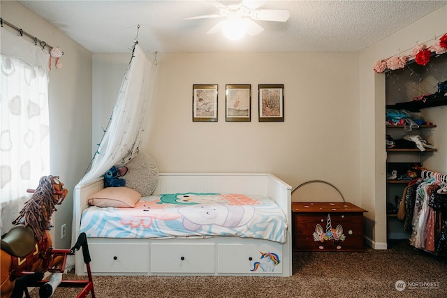
[{"label": "brown rocking horse with shaggy mane and dark saddle", "polygon": [[[40,297],[51,297],[57,286],[83,288],[77,297],[95,298],[90,271],[87,237],[80,234],[71,249],[52,248],[50,221],[56,205],[64,201],[68,191],[57,176],[44,176],[24,204],[13,227],[1,237],[1,298],[29,298],[28,287],[38,287]],[[82,246],[88,281],[62,281],[67,255],[74,255]],[[43,280],[45,272],[52,274]]]}]

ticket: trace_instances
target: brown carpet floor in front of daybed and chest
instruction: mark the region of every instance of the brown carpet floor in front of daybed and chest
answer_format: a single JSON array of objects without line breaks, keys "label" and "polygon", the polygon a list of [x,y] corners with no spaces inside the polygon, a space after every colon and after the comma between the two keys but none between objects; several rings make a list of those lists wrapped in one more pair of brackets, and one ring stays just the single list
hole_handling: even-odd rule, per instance
[{"label": "brown carpet floor in front of daybed and chest", "polygon": [[[408,240],[364,253],[295,252],[292,266],[288,278],[94,276],[94,291],[98,298],[447,297],[447,259],[416,250]],[[65,274],[64,279],[86,277]],[[58,288],[53,297],[76,297],[78,292]],[[30,295],[38,297],[38,290]]]}]

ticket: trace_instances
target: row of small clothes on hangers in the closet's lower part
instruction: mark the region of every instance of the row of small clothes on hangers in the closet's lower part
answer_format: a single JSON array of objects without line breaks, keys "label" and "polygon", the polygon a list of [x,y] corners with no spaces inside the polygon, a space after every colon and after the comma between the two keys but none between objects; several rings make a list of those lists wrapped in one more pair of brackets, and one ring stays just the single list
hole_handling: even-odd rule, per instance
[{"label": "row of small clothes on hangers in the closet's lower part", "polygon": [[410,244],[447,255],[447,175],[424,170],[404,193],[404,230],[411,232]]}]

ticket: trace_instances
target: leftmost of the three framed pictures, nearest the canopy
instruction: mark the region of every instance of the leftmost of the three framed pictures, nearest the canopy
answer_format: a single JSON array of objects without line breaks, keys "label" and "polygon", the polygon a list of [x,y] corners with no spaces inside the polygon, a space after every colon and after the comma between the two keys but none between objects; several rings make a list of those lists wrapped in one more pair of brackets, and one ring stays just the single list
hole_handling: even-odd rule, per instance
[{"label": "leftmost of the three framed pictures, nearest the canopy", "polygon": [[193,85],[193,121],[217,122],[217,84]]}]

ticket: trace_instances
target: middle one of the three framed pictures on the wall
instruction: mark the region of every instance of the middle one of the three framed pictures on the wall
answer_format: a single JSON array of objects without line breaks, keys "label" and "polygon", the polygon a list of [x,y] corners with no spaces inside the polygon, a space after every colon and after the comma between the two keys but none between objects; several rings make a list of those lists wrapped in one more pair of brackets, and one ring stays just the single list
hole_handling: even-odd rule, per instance
[{"label": "middle one of the three framed pictures on the wall", "polygon": [[250,121],[251,85],[226,85],[226,121]]}]

